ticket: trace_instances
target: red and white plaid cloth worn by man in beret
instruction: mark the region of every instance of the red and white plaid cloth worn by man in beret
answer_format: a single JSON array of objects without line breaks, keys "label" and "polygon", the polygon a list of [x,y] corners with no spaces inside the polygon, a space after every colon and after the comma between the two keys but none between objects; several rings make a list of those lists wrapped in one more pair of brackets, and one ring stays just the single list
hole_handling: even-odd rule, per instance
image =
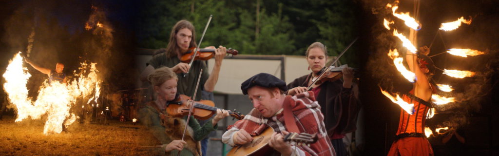
[{"label": "red and white plaid cloth worn by man in beret", "polygon": [[[302,145],[297,147],[303,150],[306,155],[334,155],[334,148],[331,145],[331,140],[327,136],[324,126],[324,116],[320,112],[320,105],[315,101],[313,92],[303,92],[292,97],[286,96],[286,98],[290,98],[289,103],[284,104],[291,105],[298,130],[311,134],[317,133],[318,136],[317,142],[310,144],[310,146]],[[276,116],[267,118],[263,117],[254,108],[244,119],[237,121],[234,125],[230,125],[227,129],[231,129],[233,126],[238,129],[245,129],[253,136],[260,134],[268,126],[279,133],[286,130],[282,112]]]}]

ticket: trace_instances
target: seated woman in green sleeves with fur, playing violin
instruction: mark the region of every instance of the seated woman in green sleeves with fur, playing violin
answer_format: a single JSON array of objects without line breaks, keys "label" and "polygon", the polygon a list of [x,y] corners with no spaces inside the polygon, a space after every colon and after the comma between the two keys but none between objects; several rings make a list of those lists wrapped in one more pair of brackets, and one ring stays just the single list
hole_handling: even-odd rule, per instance
[{"label": "seated woman in green sleeves with fur, playing violin", "polygon": [[[174,101],[178,96],[177,93],[177,75],[169,67],[160,67],[154,70],[148,76],[149,81],[154,86],[156,100],[150,101],[139,111],[140,120],[151,130],[153,135],[163,144],[162,148],[168,154],[176,155],[181,151],[181,155],[200,155],[197,142],[206,137],[211,131],[218,128],[218,121],[229,116],[227,110],[217,110],[217,114],[213,119],[200,125],[199,122],[191,116],[189,127],[192,128],[192,134],[186,134],[186,140],[189,135],[196,141],[195,144],[188,143],[184,140],[173,139],[177,138],[180,132],[182,135],[184,126],[179,124],[179,121],[184,121],[187,117],[174,118],[166,112],[167,105]],[[168,133],[166,132],[168,131]],[[174,136],[172,136],[174,135]],[[182,136],[180,136],[182,137]],[[187,145],[187,146],[186,146]],[[193,147],[194,146],[194,147]]]}]

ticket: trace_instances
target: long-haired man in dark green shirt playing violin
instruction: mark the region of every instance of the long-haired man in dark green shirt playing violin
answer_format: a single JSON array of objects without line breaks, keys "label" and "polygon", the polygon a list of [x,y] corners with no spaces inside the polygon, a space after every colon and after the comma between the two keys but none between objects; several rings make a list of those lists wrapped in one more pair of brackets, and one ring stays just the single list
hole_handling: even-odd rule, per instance
[{"label": "long-haired man in dark green shirt playing violin", "polygon": [[[222,60],[227,53],[227,49],[224,46],[219,46],[219,48],[215,49],[215,65],[213,66],[211,74],[209,74],[205,61],[195,60],[189,65],[189,63],[184,63],[180,60],[184,53],[189,52],[188,49],[190,47],[197,46],[195,39],[196,34],[194,25],[187,20],[178,21],[172,28],[170,42],[166,47],[166,51],[153,56],[153,58],[146,63],[147,67],[142,72],[141,79],[145,81],[147,80],[147,76],[152,73],[155,68],[167,66],[172,68],[175,73],[179,74],[178,92],[192,95],[196,88],[196,80],[199,76],[199,71],[200,69],[203,69],[200,82],[201,87],[198,88],[198,92],[201,92],[201,90],[212,92],[215,89]],[[209,46],[208,48],[215,48],[215,46]],[[188,71],[189,74],[186,76],[181,75]],[[201,96],[198,96],[195,100],[200,100],[200,98]]]}]

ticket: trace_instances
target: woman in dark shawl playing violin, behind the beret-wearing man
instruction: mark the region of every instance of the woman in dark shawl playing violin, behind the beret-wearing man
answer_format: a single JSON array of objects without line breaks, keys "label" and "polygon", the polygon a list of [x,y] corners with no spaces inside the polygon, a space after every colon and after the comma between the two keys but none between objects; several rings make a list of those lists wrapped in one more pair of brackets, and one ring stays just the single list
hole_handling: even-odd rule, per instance
[{"label": "woman in dark shawl playing violin, behind the beret-wearing man", "polygon": [[345,144],[342,138],[346,133],[356,129],[357,114],[360,105],[356,102],[352,91],[353,69],[343,68],[343,81],[336,79],[312,84],[312,79],[318,77],[319,71],[324,68],[327,60],[327,47],[320,42],[308,46],[305,52],[308,67],[312,72],[294,79],[287,85],[288,95],[307,91],[307,86],[312,85],[310,91],[321,106],[324,114],[324,123],[331,139],[336,155],[346,155]]}]

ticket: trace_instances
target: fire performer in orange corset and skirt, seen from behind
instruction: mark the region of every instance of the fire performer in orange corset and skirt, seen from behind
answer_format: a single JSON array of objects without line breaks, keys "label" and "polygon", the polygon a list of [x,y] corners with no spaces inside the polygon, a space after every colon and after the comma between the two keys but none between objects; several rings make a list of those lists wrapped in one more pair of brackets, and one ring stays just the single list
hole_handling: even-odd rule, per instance
[{"label": "fire performer in orange corset and skirt, seen from behind", "polygon": [[432,107],[432,94],[436,91],[431,78],[435,73],[435,66],[428,53],[430,49],[423,46],[419,48],[417,55],[409,52],[406,54],[407,64],[416,74],[416,82],[413,89],[402,98],[408,103],[414,103],[414,112],[409,114],[401,108],[396,140],[388,155],[433,155],[432,146],[424,133],[426,115]]}]

